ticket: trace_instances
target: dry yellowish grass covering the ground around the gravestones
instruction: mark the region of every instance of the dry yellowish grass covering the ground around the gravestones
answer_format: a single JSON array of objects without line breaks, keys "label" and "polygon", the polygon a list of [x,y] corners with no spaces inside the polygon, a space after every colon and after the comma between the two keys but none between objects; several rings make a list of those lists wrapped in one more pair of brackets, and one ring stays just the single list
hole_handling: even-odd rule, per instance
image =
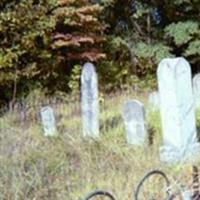
[{"label": "dry yellowish grass covering the ground around the gravestones", "polygon": [[[159,161],[158,113],[147,112],[151,146],[148,142],[144,147],[127,145],[122,120],[106,124],[120,116],[127,98],[134,95],[118,94],[101,103],[103,128],[98,141],[82,138],[80,112],[73,113],[70,104],[60,109],[57,138],[44,137],[40,122],[19,124],[13,115],[2,117],[0,200],[80,200],[94,189],[111,191],[116,200],[131,200],[139,180],[151,169],[161,169],[169,177],[189,183],[189,164],[166,166]],[[138,98],[145,103],[144,97]],[[152,190],[159,193],[161,185],[149,184],[146,199]]]}]

